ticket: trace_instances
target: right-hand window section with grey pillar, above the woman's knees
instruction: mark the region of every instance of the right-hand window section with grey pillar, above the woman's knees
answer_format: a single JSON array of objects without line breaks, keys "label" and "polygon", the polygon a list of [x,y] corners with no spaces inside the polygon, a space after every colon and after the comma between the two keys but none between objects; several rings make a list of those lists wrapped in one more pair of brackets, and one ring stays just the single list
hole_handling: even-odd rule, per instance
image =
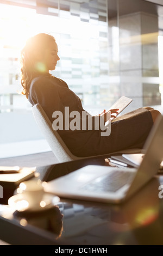
[{"label": "right-hand window section with grey pillar, above the woman's knees", "polygon": [[113,95],[131,97],[130,109],[154,106],[161,111],[158,36],[163,10],[151,2],[108,0],[108,88]]}]

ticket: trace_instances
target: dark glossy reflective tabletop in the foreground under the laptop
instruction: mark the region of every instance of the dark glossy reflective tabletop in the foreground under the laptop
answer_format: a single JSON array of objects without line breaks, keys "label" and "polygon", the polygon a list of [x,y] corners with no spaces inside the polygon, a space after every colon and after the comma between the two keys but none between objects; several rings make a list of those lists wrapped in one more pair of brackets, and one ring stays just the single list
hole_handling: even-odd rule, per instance
[{"label": "dark glossy reflective tabletop in the foreground under the laptop", "polygon": [[[66,174],[73,170],[70,165],[41,167],[42,179],[56,178],[61,171]],[[74,166],[76,169],[77,165]],[[156,175],[121,205],[61,198],[54,208],[28,216],[15,215],[8,205],[0,205],[0,239],[12,245],[83,245],[86,248],[88,245],[102,248],[105,245],[162,245],[160,185],[163,185],[163,176]]]}]

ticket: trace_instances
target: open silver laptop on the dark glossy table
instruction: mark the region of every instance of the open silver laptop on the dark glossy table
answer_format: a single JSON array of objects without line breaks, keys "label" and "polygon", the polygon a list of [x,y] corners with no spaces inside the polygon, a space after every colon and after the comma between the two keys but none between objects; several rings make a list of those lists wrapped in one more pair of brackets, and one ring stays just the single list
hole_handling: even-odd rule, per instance
[{"label": "open silver laptop on the dark glossy table", "polygon": [[138,168],[87,165],[47,182],[45,191],[63,198],[122,203],[159,170],[163,160],[163,117],[153,126],[144,148],[146,154]]}]

